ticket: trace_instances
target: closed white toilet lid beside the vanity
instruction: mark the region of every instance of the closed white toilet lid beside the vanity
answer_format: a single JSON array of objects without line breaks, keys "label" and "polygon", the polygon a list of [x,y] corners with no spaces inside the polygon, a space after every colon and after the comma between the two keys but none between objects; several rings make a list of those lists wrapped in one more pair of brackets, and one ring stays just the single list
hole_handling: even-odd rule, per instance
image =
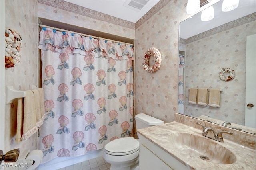
[{"label": "closed white toilet lid beside the vanity", "polygon": [[112,155],[132,154],[139,150],[140,143],[133,137],[115,139],[105,146],[105,151]]}]

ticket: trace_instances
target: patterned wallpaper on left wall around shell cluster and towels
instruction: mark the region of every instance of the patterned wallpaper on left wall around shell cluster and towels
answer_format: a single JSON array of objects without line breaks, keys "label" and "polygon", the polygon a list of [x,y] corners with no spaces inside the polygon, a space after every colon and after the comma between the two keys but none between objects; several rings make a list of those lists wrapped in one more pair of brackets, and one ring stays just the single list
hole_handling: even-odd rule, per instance
[{"label": "patterned wallpaper on left wall around shell cluster and towels", "polygon": [[[32,90],[38,86],[38,18],[36,0],[6,1],[6,27],[16,29],[22,36],[20,63],[5,69],[6,86],[16,90]],[[17,10],[18,9],[18,10]],[[20,148],[20,154],[25,149],[37,148],[37,133],[27,141],[16,143],[16,113],[17,100],[5,106],[5,150]]]}]

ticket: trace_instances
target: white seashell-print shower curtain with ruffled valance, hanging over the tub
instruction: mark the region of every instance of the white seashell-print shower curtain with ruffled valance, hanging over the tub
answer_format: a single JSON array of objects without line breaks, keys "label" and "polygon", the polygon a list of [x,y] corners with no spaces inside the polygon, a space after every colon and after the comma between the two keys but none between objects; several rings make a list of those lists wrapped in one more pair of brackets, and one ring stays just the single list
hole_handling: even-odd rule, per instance
[{"label": "white seashell-print shower curtain with ruffled valance, hanging over the tub", "polygon": [[132,46],[43,27],[39,49],[46,114],[38,137],[42,163],[132,135]]}]

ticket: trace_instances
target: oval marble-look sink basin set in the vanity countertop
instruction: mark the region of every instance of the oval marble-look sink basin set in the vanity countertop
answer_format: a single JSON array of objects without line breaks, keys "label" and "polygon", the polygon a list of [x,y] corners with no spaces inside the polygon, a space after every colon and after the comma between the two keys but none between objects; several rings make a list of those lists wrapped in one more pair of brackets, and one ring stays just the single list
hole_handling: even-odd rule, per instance
[{"label": "oval marble-look sink basin set in the vanity countertop", "polygon": [[213,139],[192,133],[177,132],[168,136],[170,144],[182,155],[212,162],[215,164],[232,164],[236,156],[226,147]]}]

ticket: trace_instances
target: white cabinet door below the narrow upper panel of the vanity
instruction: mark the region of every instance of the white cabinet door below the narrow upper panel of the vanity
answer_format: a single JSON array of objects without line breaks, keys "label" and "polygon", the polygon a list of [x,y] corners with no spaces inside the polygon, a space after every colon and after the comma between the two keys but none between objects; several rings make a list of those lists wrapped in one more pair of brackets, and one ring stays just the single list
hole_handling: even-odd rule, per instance
[{"label": "white cabinet door below the narrow upper panel of the vanity", "polygon": [[172,168],[144,145],[140,145],[140,170],[172,170]]}]

